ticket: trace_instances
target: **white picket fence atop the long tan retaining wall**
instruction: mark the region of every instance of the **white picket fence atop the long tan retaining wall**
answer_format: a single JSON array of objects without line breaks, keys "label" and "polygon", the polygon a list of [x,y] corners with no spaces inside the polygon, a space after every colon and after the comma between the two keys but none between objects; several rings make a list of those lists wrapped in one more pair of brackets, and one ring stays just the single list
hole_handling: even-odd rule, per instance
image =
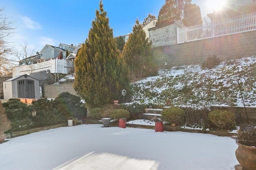
[{"label": "white picket fence atop the long tan retaining wall", "polygon": [[177,28],[177,43],[256,30],[256,12],[212,21],[211,25]]}]

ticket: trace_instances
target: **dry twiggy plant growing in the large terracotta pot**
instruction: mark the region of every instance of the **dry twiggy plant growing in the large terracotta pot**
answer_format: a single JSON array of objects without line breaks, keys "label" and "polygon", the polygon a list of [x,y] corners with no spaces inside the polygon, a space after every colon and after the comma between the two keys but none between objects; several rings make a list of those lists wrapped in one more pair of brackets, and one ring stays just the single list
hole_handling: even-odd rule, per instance
[{"label": "dry twiggy plant growing in the large terracotta pot", "polygon": [[256,147],[256,124],[242,124],[240,125],[240,129],[238,130],[238,135],[236,137],[236,142]]}]

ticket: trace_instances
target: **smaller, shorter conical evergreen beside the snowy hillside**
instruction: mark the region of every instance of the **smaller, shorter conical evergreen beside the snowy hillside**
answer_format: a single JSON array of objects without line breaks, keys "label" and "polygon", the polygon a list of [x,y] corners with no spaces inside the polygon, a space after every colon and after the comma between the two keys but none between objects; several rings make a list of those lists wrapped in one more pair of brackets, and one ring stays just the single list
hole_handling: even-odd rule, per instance
[{"label": "smaller, shorter conical evergreen beside the snowy hillside", "polygon": [[132,80],[158,74],[151,52],[152,43],[146,38],[146,33],[142,28],[142,24],[137,19],[124,45],[123,55],[130,68]]}]

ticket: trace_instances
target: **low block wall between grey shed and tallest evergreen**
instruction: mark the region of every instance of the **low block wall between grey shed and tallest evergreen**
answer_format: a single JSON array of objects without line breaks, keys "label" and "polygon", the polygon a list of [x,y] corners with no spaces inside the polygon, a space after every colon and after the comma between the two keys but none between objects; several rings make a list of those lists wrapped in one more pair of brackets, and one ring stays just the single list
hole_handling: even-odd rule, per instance
[{"label": "low block wall between grey shed and tallest evergreen", "polygon": [[56,98],[62,92],[69,92],[78,96],[73,88],[73,83],[43,85],[42,92],[44,98]]}]

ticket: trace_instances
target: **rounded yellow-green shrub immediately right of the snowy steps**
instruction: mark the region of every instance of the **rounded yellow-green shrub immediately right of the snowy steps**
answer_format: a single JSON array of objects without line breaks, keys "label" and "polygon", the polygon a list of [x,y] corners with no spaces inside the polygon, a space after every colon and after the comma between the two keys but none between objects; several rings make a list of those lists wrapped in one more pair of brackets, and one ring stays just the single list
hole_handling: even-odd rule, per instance
[{"label": "rounded yellow-green shrub immediately right of the snowy steps", "polygon": [[170,107],[162,111],[161,119],[169,123],[181,124],[184,111],[178,107]]}]

